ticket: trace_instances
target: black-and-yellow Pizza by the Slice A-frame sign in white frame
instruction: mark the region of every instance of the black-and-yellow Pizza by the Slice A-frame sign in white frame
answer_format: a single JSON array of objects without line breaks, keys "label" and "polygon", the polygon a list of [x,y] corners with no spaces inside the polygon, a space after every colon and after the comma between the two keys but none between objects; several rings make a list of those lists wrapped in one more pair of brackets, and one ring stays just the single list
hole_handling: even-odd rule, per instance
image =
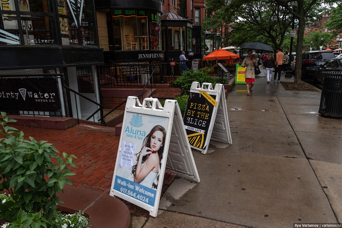
[{"label": "black-and-yellow Pizza by the Slice A-frame sign in white frame", "polygon": [[197,81],[191,85],[184,113],[184,125],[190,147],[206,154],[210,139],[232,144],[224,86]]}]

